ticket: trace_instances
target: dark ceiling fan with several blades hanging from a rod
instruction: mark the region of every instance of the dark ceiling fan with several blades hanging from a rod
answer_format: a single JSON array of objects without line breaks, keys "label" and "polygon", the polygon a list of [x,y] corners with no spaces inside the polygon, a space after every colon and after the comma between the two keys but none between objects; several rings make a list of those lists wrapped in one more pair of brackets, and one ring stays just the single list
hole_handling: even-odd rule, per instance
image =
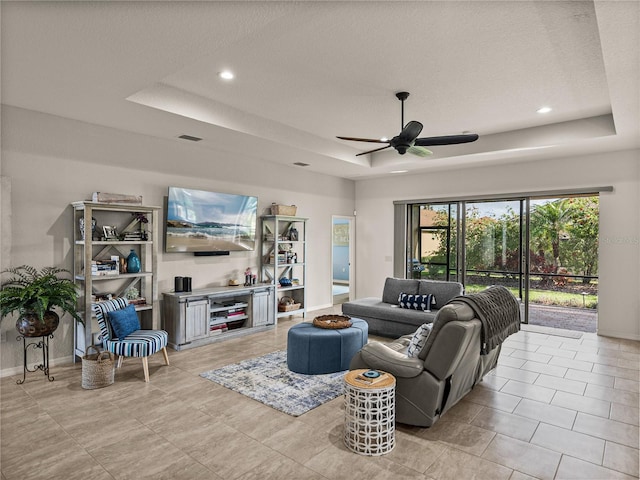
[{"label": "dark ceiling fan with several blades hanging from a rod", "polygon": [[[404,101],[409,97],[409,92],[396,93],[398,100],[402,102],[402,123],[404,125]],[[393,137],[391,140],[386,139],[373,139],[373,138],[356,138],[356,137],[337,137],[341,140],[353,140],[356,142],[370,142],[370,143],[386,143],[384,147],[374,148],[366,152],[358,153],[357,156],[366,155],[367,153],[379,152],[389,147],[393,147],[400,155],[404,155],[409,152],[419,157],[426,157],[432,155],[431,150],[427,150],[424,147],[430,147],[434,145],[454,145],[458,143],[475,142],[478,139],[478,135],[475,133],[462,134],[462,135],[444,135],[440,137],[422,137],[418,138],[422,131],[422,124],[411,120],[409,123],[402,127],[402,131]]]}]

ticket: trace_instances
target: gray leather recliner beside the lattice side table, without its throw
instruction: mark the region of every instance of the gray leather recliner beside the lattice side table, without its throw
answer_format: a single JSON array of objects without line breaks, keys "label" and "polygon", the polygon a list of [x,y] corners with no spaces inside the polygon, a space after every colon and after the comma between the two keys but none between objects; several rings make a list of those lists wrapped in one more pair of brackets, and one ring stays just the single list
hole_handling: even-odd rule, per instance
[{"label": "gray leather recliner beside the lattice side table, without its throw", "polygon": [[406,335],[390,344],[368,343],[356,353],[349,368],[393,374],[396,421],[430,427],[495,367],[501,345],[480,355],[481,328],[474,310],[453,300],[438,311],[417,356],[407,355],[412,335]]}]

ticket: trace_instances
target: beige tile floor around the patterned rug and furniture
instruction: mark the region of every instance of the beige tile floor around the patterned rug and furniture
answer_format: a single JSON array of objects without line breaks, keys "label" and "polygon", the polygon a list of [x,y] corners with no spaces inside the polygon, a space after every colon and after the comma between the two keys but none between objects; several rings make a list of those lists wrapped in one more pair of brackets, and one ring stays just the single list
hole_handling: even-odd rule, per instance
[{"label": "beige tile floor around the patterned rug and furniture", "polygon": [[432,428],[398,425],[371,458],[342,444],[342,397],[294,418],[199,377],[286,348],[301,320],[157,355],[148,384],[131,360],[99,390],[79,364],[1,379],[2,480],[638,478],[640,342],[520,331]]}]

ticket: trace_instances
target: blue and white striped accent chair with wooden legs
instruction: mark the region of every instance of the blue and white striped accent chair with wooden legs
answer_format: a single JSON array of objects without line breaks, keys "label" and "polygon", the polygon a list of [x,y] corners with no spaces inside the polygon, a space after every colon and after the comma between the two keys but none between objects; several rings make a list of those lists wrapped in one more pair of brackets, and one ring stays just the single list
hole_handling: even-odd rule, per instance
[{"label": "blue and white striped accent chair with wooden legs", "polygon": [[113,338],[113,329],[109,323],[108,313],[125,308],[129,302],[126,298],[114,298],[105,302],[93,303],[93,313],[98,319],[102,346],[106,351],[117,355],[117,367],[122,366],[124,357],[142,358],[144,381],[149,381],[149,356],[162,350],[165,364],[169,365],[167,354],[168,335],[164,330],[136,330],[124,338]]}]

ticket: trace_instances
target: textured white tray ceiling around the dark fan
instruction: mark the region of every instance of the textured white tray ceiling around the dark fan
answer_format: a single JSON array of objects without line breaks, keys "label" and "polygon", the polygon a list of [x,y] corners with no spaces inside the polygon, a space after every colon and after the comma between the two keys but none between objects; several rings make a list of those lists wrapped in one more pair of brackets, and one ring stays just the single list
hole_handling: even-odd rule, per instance
[{"label": "textured white tray ceiling around the dark fan", "polygon": [[[4,104],[200,147],[355,179],[640,146],[635,1],[0,8]],[[480,140],[420,159],[335,138],[396,135],[400,90],[421,136]]]}]

